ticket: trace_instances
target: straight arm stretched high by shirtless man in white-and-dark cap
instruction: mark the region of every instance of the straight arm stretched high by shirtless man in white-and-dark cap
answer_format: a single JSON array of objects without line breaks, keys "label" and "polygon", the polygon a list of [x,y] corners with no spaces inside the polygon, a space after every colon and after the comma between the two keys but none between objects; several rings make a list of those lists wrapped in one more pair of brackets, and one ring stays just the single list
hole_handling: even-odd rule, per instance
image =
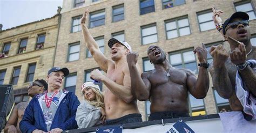
[{"label": "straight arm stretched high by shirtless man in white-and-dark cap", "polygon": [[80,25],[82,27],[82,32],[84,36],[84,41],[86,44],[86,47],[91,52],[91,55],[95,59],[95,61],[98,63],[99,67],[103,71],[107,71],[109,63],[111,63],[111,60],[108,60],[104,54],[100,51],[99,46],[97,45],[96,41],[92,38],[89,29],[86,27],[85,21],[87,16],[89,16],[89,10],[86,9],[86,11],[83,14],[83,17],[81,18]]}]

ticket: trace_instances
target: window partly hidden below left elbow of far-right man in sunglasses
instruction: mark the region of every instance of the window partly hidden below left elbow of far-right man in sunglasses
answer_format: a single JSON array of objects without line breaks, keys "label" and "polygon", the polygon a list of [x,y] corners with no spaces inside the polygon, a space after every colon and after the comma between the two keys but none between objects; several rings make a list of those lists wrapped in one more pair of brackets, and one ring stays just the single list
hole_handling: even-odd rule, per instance
[{"label": "window partly hidden below left elbow of far-right man in sunglasses", "polygon": [[217,106],[217,112],[220,113],[220,112],[231,111],[230,103],[228,102],[228,100],[221,98],[218,92],[214,88],[213,88],[213,92],[214,92],[213,95],[214,95],[215,103]]}]

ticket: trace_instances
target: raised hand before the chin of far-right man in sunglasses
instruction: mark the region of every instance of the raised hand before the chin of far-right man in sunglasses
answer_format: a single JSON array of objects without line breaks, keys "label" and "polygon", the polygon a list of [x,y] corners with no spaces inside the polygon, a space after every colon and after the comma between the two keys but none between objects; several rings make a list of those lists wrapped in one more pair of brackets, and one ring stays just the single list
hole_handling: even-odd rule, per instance
[{"label": "raised hand before the chin of far-right man in sunglasses", "polygon": [[246,62],[246,49],[244,43],[240,43],[230,54],[231,62],[235,65],[244,64]]}]

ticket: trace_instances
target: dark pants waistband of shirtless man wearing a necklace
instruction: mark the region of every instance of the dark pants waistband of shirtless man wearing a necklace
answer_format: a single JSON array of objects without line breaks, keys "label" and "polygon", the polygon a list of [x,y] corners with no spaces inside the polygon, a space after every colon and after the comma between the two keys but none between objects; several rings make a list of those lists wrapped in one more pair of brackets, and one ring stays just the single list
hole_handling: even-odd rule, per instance
[{"label": "dark pants waistband of shirtless man wearing a necklace", "polygon": [[190,117],[188,113],[174,113],[174,112],[155,112],[150,114],[149,121],[161,120],[161,119],[172,119],[178,117]]}]

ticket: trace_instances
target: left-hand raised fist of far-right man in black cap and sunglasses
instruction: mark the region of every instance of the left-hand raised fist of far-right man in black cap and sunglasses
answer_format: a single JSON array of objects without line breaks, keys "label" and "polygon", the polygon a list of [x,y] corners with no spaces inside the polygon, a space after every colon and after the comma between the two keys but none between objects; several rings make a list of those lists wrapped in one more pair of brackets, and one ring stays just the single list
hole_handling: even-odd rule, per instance
[{"label": "left-hand raised fist of far-right man in black cap and sunglasses", "polygon": [[224,45],[212,46],[209,52],[213,57],[213,65],[217,68],[223,67],[230,55]]}]

